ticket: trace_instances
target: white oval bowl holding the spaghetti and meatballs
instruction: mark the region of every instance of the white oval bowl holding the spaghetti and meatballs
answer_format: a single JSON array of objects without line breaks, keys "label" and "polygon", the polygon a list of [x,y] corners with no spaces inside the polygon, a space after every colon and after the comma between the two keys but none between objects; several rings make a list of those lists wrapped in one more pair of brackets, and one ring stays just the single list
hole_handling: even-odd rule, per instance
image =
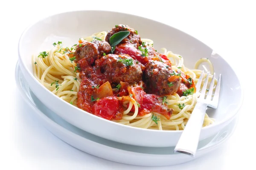
[{"label": "white oval bowl holding the spaghetti and meatballs", "polygon": [[138,30],[142,38],[154,41],[154,47],[158,51],[164,47],[182,55],[187,68],[194,68],[195,62],[200,58],[209,58],[215,73],[222,74],[218,108],[207,110],[208,115],[215,118],[215,123],[202,128],[200,140],[217,133],[233,120],[241,106],[243,93],[238,77],[221,56],[176,28],[143,17],[112,11],[56,14],[32,24],[23,32],[18,45],[20,68],[29,87],[44,105],[70,124],[105,139],[147,147],[170,147],[177,144],[183,130],[149,130],[108,121],[70,105],[52,94],[33,76],[33,54],[49,50],[52,43],[57,41],[62,41],[64,46],[73,45],[80,37],[111,30],[117,24],[125,24]]}]

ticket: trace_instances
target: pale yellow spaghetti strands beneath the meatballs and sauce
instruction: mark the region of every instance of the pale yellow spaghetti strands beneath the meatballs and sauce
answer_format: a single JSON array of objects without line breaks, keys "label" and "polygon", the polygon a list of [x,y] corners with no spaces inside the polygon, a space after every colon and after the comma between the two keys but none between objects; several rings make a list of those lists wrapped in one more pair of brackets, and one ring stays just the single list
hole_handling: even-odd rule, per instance
[{"label": "pale yellow spaghetti strands beneath the meatballs and sauce", "polygon": [[[105,40],[106,35],[107,32],[102,31],[92,36],[85,37],[84,39],[81,38],[81,41],[86,40],[90,42],[96,38]],[[153,46],[152,40],[142,39],[142,41],[148,46]],[[74,62],[74,57],[71,54],[76,51],[76,46],[78,45],[73,45],[69,48],[63,48],[62,42],[56,42],[53,45],[54,47],[50,51],[44,51],[32,57],[34,76],[53,94],[77,107],[81,76],[76,72],[77,64]],[[184,74],[192,77],[195,83],[201,75],[202,71],[198,70],[198,67],[202,62],[207,62],[211,73],[213,73],[212,63],[209,59],[199,59],[198,62],[196,62],[195,69],[190,70],[183,64],[183,57],[172,53],[172,51],[167,51],[165,48],[162,48],[162,50],[163,54],[171,60],[173,71],[182,71]],[[204,79],[205,78],[206,75],[204,75]],[[211,81],[211,79],[212,76],[209,77],[209,81]],[[140,83],[131,85],[131,87],[136,86],[142,87]],[[113,91],[116,91],[116,88],[113,88]],[[170,119],[167,119],[166,116],[154,111],[140,116],[138,114],[139,105],[137,101],[131,97],[132,94],[129,91],[129,96],[118,97],[118,100],[122,101],[122,119],[112,119],[111,121],[123,125],[154,130],[183,130],[197,103],[199,95],[200,93],[192,93],[187,96],[180,96],[175,93],[165,96],[165,102],[168,108],[173,109],[172,116]],[[209,116],[205,114],[203,126],[208,126],[213,122],[214,119],[209,118]]]}]

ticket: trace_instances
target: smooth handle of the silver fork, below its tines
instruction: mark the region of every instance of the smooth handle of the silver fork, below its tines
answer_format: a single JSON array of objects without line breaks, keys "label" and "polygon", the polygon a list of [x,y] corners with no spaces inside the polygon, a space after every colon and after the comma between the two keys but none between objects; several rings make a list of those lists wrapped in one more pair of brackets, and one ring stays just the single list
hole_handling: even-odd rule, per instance
[{"label": "smooth handle of the silver fork, below its tines", "polygon": [[175,153],[195,156],[207,105],[203,102],[197,102],[174,149]]}]

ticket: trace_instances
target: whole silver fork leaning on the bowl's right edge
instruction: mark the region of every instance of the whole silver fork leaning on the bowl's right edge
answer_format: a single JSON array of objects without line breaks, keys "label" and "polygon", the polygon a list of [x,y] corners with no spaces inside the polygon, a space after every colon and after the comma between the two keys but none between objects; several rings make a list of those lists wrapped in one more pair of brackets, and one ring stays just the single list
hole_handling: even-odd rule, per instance
[{"label": "whole silver fork leaning on the bowl's right edge", "polygon": [[[204,71],[201,73],[198,79],[198,82],[196,84],[196,89],[197,89],[196,93],[199,93],[199,89],[201,87],[203,77],[204,77]],[[220,86],[221,86],[221,74],[218,77],[218,82],[215,88],[213,99],[212,99],[212,92],[214,88],[215,73],[213,74],[209,91],[205,99],[208,79],[209,79],[209,72],[207,73],[207,77],[204,81],[204,86],[201,90],[201,94],[198,98],[198,102],[195,105],[195,108],[191,113],[191,116],[186,124],[186,127],[183,130],[183,133],[181,134],[180,139],[174,149],[175,153],[185,153],[193,157],[195,156],[195,153],[198,147],[201,128],[204,122],[204,115],[205,115],[206,108],[208,105],[209,107],[215,108],[215,109],[218,106],[218,99],[219,99]]]}]

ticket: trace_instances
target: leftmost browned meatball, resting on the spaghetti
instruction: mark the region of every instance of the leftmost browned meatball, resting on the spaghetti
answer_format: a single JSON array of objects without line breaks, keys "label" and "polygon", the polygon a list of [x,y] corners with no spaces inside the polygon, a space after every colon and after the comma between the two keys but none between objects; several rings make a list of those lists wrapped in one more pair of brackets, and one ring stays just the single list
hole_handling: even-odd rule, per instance
[{"label": "leftmost browned meatball, resting on the spaghetti", "polygon": [[106,41],[93,41],[77,45],[74,56],[76,56],[76,61],[86,58],[88,64],[93,65],[96,59],[103,56],[103,53],[109,54],[111,52],[111,46]]}]

